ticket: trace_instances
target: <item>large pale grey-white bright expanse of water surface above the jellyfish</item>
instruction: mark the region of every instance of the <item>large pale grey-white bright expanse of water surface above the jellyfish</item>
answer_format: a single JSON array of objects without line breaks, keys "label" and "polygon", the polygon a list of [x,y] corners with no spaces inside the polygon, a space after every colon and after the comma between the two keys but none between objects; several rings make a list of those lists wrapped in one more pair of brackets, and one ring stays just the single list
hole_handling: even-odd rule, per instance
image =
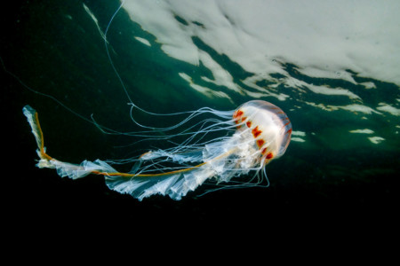
[{"label": "large pale grey-white bright expanse of water surface above the jellyfish", "polygon": [[[266,79],[268,74],[288,76],[276,64],[282,61],[312,77],[356,83],[347,71],[351,69],[359,76],[400,84],[396,0],[379,4],[372,0],[126,1],[124,9],[131,20],[156,36],[166,54],[196,66],[204,56],[193,37]],[[230,79],[215,82],[232,88]],[[365,88],[372,89],[373,84]],[[315,87],[310,90],[316,92]],[[331,93],[329,88],[317,91]]]}]

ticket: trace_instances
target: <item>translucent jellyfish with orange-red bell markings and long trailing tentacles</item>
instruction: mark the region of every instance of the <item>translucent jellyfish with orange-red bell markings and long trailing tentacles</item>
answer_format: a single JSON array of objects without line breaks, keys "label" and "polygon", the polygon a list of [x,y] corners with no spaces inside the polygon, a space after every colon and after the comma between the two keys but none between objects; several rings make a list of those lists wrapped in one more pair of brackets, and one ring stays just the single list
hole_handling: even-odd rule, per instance
[{"label": "translucent jellyfish with orange-red bell markings and long trailing tentacles", "polygon": [[[194,133],[182,130],[180,135],[188,135],[183,143],[143,153],[132,160],[131,171],[122,173],[112,166],[116,164],[113,160],[84,160],[73,164],[52,158],[46,153],[36,110],[30,106],[23,108],[36,138],[38,168],[55,168],[60,176],[72,179],[91,174],[104,176],[109,189],[130,194],[138,200],[156,194],[181,200],[204,183],[226,184],[225,187],[230,188],[239,184],[258,185],[263,181],[262,176],[267,178],[265,166],[284,155],[290,143],[291,121],[281,108],[267,101],[252,100],[226,112],[203,109],[191,113],[186,121],[202,112],[213,113],[224,120],[208,120]],[[221,130],[232,134],[204,140],[209,132]],[[239,181],[240,176],[249,176],[251,171],[255,173],[251,180]]]}]

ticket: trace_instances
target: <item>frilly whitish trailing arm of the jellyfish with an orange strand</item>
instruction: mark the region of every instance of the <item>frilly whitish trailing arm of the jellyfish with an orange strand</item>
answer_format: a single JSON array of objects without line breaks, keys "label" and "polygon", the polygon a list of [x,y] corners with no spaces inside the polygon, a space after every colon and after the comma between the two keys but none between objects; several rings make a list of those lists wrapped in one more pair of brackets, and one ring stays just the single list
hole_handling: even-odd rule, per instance
[{"label": "frilly whitish trailing arm of the jellyfish with an orange strand", "polygon": [[[168,193],[170,194],[172,199],[180,200],[180,198],[186,195],[188,191],[194,190],[199,184],[202,184],[205,179],[213,176],[211,168],[204,168],[206,164],[212,163],[212,161],[215,160],[221,160],[223,157],[227,157],[229,154],[235,152],[235,149],[231,149],[226,153],[220,154],[219,156],[212,158],[211,160],[204,161],[190,168],[180,168],[178,170],[168,171],[164,173],[152,173],[152,174],[118,172],[116,171],[116,169],[112,168],[107,162],[102,160],[94,160],[94,161],[84,160],[79,165],[72,164],[56,160],[47,153],[45,153],[44,135],[40,126],[36,110],[30,106],[25,106],[23,108],[23,113],[27,116],[32,132],[36,137],[36,144],[38,147],[37,153],[40,158],[39,163],[37,164],[39,168],[56,168],[57,173],[60,176],[62,177],[68,176],[73,179],[84,177],[89,174],[105,176],[106,184],[108,184],[110,188],[119,192],[130,191],[132,190],[132,188],[135,188],[132,191],[130,191],[130,193],[136,194],[137,198],[140,200],[155,192],[163,192],[160,191],[159,189],[161,184],[164,184],[165,187],[164,192],[167,192],[168,190]],[[157,156],[159,155],[155,155],[154,157]],[[151,152],[144,153],[140,156],[139,160],[146,160],[149,159],[150,157],[151,157]],[[202,175],[196,175],[194,173],[190,173],[196,169],[201,169],[201,171],[203,172]],[[208,172],[208,174],[204,175],[204,172]],[[192,180],[189,180],[190,179],[189,177],[191,177]],[[186,184],[184,182],[181,182],[185,178],[187,181]],[[180,183],[178,181],[180,181]],[[138,186],[138,189],[136,189],[135,185]],[[140,189],[140,186],[143,185],[145,186],[145,188]],[[175,186],[176,191],[169,189],[169,187],[172,186]]]}]

